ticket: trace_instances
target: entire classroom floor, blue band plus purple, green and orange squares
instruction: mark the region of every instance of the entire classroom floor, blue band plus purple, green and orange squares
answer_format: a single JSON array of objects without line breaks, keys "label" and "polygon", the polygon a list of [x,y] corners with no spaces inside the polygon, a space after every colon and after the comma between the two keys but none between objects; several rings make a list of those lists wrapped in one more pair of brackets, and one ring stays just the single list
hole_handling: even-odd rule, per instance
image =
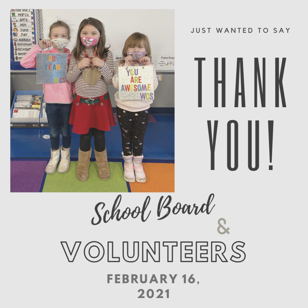
[{"label": "entire classroom floor, blue band plus purple, green and orange squares", "polygon": [[[92,150],[87,181],[79,181],[76,177],[79,135],[72,133],[68,172],[46,174],[50,140],[44,136],[49,134],[49,129],[11,128],[11,192],[174,192],[174,115],[152,115],[150,118],[142,163],[147,176],[145,183],[124,180],[121,136],[117,126],[116,123],[105,134],[110,178],[99,179]],[[94,144],[91,147],[94,148]]]}]

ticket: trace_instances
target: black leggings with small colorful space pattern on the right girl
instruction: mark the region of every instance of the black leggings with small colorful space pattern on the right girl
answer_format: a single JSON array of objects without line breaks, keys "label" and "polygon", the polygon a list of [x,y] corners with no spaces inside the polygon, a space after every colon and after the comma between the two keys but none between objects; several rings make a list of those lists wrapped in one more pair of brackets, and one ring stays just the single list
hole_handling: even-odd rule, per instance
[{"label": "black leggings with small colorful space pattern on the right girl", "polygon": [[116,107],[124,156],[142,156],[143,138],[149,122],[149,110],[127,111]]}]

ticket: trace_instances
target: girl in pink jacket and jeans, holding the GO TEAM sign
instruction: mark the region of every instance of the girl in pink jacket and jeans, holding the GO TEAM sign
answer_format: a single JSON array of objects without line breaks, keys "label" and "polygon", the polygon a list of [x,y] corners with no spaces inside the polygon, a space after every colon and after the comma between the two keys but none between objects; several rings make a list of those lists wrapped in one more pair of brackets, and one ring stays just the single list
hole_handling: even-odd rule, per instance
[{"label": "girl in pink jacket and jeans, holding the GO TEAM sign", "polygon": [[[49,29],[49,39],[42,39],[22,58],[20,64],[23,67],[36,67],[36,54],[38,53],[67,53],[67,67],[71,58],[70,51],[65,48],[69,43],[70,27],[63,21],[54,22]],[[45,48],[53,46],[50,50]],[[43,84],[46,114],[50,126],[51,159],[45,172],[54,173],[58,167],[59,173],[65,173],[70,167],[71,126],[68,123],[73,101],[72,83],[63,78],[62,83]],[[60,148],[60,132],[63,145]]]}]

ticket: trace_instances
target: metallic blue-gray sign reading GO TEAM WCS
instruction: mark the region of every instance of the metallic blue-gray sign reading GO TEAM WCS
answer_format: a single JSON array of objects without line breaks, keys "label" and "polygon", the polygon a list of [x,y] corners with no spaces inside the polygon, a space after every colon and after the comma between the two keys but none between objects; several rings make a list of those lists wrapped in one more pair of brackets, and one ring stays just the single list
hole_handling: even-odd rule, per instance
[{"label": "metallic blue-gray sign reading GO TEAM WCS", "polygon": [[67,53],[37,54],[36,83],[66,83]]}]

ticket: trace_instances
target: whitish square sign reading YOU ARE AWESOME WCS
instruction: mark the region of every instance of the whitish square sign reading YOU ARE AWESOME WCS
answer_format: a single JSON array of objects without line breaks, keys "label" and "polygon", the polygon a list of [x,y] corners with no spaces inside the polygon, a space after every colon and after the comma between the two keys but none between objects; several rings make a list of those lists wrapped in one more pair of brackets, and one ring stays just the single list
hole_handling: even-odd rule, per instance
[{"label": "whitish square sign reading YOU ARE AWESOME WCS", "polygon": [[119,99],[154,99],[153,66],[119,67]]}]

